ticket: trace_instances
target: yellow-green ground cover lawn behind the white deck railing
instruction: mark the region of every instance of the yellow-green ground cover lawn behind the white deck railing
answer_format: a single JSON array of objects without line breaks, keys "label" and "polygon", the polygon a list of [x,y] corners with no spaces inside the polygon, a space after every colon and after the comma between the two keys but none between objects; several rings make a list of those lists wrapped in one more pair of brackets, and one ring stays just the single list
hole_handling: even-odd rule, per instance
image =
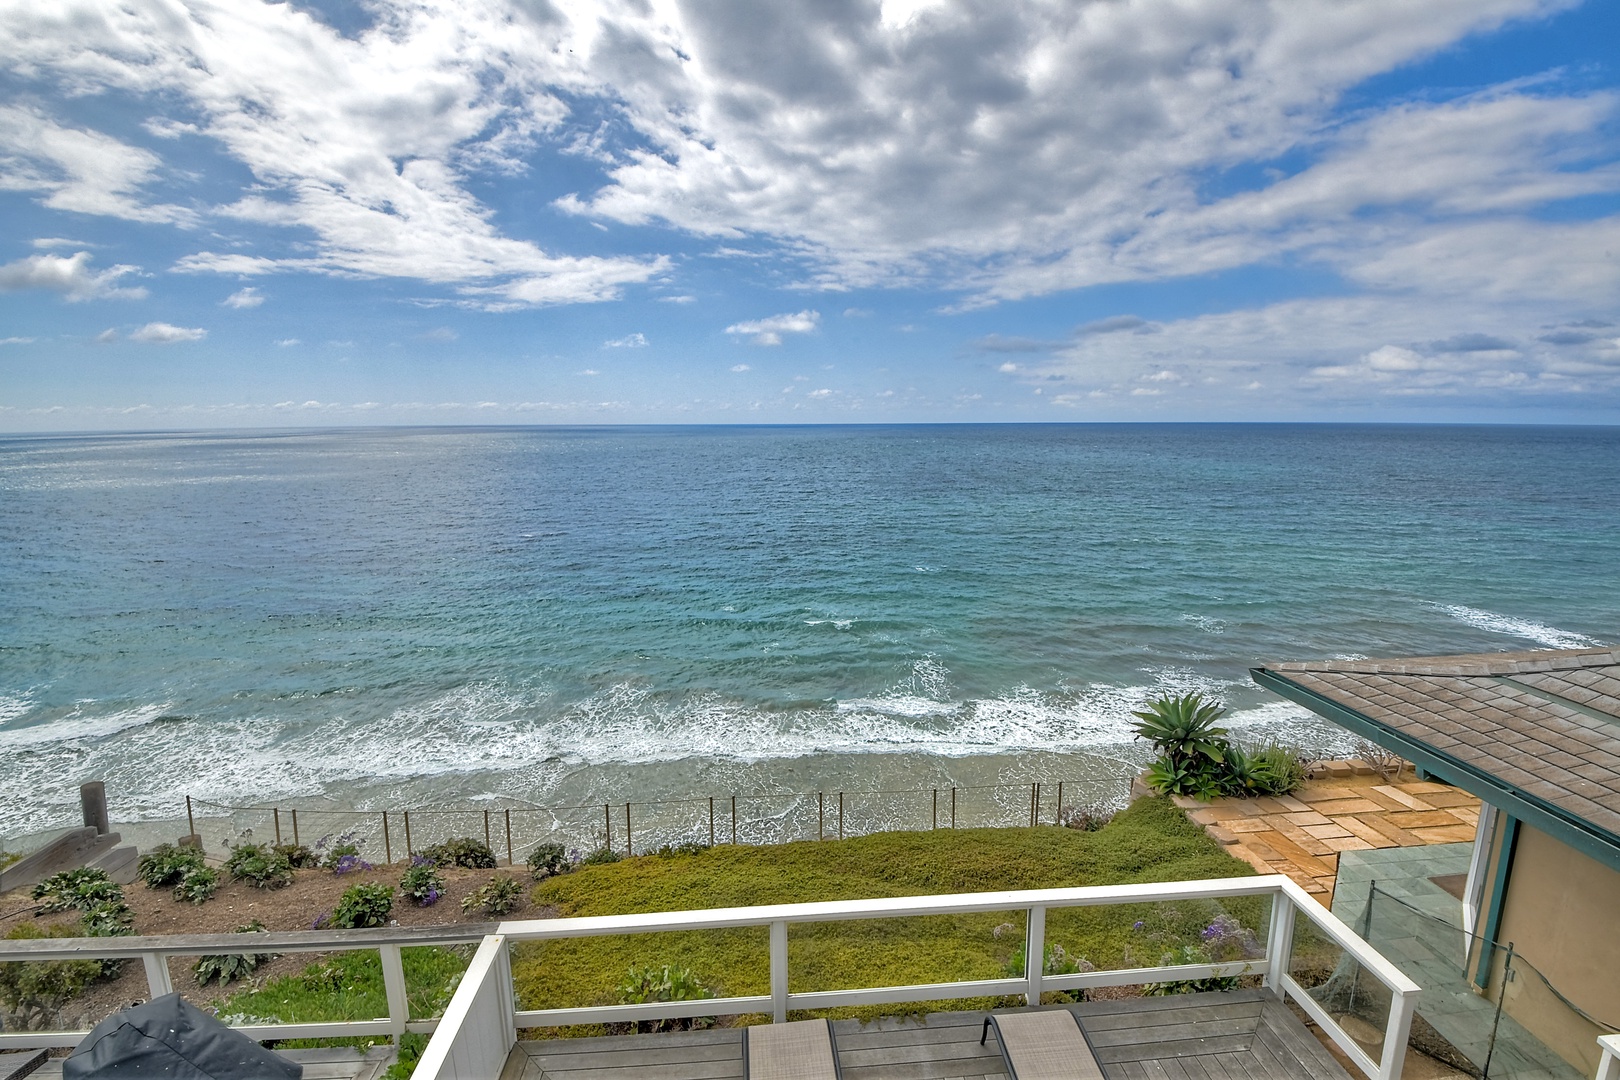
[{"label": "yellow-green ground cover lawn behind the white deck railing", "polygon": [[[1166,798],[1144,798],[1097,832],[1055,826],[883,832],[643,855],[551,878],[535,887],[533,899],[561,915],[620,915],[1252,873]],[[1207,942],[1205,931],[1220,915],[1264,941],[1267,910],[1267,902],[1252,899],[1055,910],[1047,939],[1061,946],[1068,963],[1084,957],[1097,968],[1147,967],[1166,952],[1196,962],[1178,950]],[[1021,970],[1022,941],[1022,912],[789,926],[791,989],[1000,978]],[[632,967],[664,963],[688,968],[716,994],[770,993],[765,928],[523,942],[515,949],[514,980],[523,1009],[612,1004]],[[919,1002],[825,1015],[987,1004]]]}]

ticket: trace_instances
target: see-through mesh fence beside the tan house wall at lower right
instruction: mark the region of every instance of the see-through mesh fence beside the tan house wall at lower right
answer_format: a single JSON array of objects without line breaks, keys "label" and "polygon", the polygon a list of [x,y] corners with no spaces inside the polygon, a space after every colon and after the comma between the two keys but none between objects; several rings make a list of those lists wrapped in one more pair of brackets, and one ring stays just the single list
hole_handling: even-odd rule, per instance
[{"label": "see-through mesh fence beside the tan house wall at lower right", "polygon": [[[1487,941],[1377,882],[1353,926],[1422,986],[1411,1044],[1471,1077],[1581,1080],[1597,1069],[1597,1036],[1617,1031],[1570,1001],[1513,942]],[[1476,993],[1482,962],[1489,980]],[[1377,1014],[1377,1002],[1361,1004],[1369,1018]]]}]

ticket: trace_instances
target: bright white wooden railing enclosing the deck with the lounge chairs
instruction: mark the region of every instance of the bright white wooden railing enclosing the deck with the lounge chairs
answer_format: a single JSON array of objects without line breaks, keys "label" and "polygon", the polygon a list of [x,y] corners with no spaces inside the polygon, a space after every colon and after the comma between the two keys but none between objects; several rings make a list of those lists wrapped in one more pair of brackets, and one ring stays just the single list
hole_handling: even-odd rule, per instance
[{"label": "bright white wooden railing enclosing the deck with the lounge chairs", "polygon": [[[1228,897],[1270,897],[1272,926],[1265,955],[1230,963],[1184,963],[1173,967],[1085,972],[1079,975],[1045,975],[1047,912],[1064,907],[1098,907],[1115,904],[1157,904],[1170,900],[1217,900]],[[927,915],[962,915],[972,912],[1027,913],[1024,939],[1024,976],[970,980],[961,983],[927,983],[915,986],[880,986],[868,989],[797,991],[787,989],[787,926],[791,923],[829,923],[873,918],[914,918]],[[1306,989],[1288,975],[1293,952],[1294,923],[1304,915],[1328,939],[1345,949],[1367,973],[1390,991],[1390,1012],[1383,1030],[1382,1061],[1374,1061],[1333,1020]],[[510,996],[509,968],[496,962],[507,942],[557,941],[565,938],[599,938],[616,934],[674,933],[693,929],[727,929],[765,926],[770,931],[770,994],[742,997],[708,997],[701,1001],[653,1002],[640,1006],[598,1006],[585,1009],[525,1009],[512,1017],[502,1043],[491,1038],[494,1020],[462,1027],[452,1017],[475,1017],[480,1002],[494,1002],[501,993]],[[826,904],[779,904],[768,907],[713,908],[706,912],[661,912],[650,915],[604,915],[595,918],[554,918],[501,923],[502,944],[486,942],[478,970],[468,970],[446,1012],[439,1030],[416,1065],[415,1080],[488,1080],[501,1072],[517,1041],[515,1028],[564,1023],[612,1023],[627,1020],[661,1020],[697,1015],[731,1015],[766,1012],[778,1023],[791,1009],[833,1009],[838,1006],[883,1006],[910,1001],[951,997],[991,997],[1022,994],[1038,1004],[1040,994],[1095,986],[1129,986],[1174,980],[1262,975],[1278,994],[1288,994],[1327,1031],[1346,1056],[1372,1080],[1400,1080],[1411,1030],[1418,984],[1401,975],[1332,912],[1283,876],[1225,878],[1215,881],[1179,881],[1140,886],[1092,886],[1077,889],[1024,889],[1013,892],[974,892],[954,895],[897,897],[880,900],[833,900]],[[488,954],[488,955],[486,955]],[[509,997],[499,997],[507,1001]],[[504,1006],[502,1006],[504,1007]],[[505,1020],[499,1017],[499,1020]],[[467,1069],[460,1067],[467,1062]]]}]

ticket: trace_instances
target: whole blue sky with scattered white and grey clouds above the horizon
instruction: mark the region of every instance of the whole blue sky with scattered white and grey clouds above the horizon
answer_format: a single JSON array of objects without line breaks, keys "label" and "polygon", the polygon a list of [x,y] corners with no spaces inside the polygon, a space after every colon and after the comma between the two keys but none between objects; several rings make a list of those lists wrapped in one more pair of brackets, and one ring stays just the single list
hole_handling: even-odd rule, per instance
[{"label": "whole blue sky with scattered white and grey clouds above the horizon", "polygon": [[0,0],[0,429],[1620,423],[1620,5]]}]

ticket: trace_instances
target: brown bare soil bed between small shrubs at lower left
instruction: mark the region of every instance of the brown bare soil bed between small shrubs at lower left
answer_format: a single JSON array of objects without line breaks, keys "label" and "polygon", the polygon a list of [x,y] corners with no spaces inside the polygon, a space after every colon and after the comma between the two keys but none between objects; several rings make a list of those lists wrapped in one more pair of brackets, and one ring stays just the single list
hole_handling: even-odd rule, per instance
[{"label": "brown bare soil bed between small shrubs at lower left", "polygon": [[[240,881],[222,882],[219,892],[202,904],[175,900],[168,889],[147,889],[139,881],[123,887],[125,902],[134,912],[136,934],[228,934],[238,926],[259,920],[266,929],[313,929],[322,916],[329,918],[337,899],[345,889],[364,882],[382,882],[399,886],[405,865],[379,866],[374,870],[358,870],[342,876],[326,870],[300,870],[293,874],[293,882],[285,889],[254,889]],[[551,918],[552,908],[533,907],[526,894],[531,884],[528,868],[501,870],[460,870],[447,868],[444,874],[444,895],[433,907],[416,907],[402,895],[394,897],[394,926],[450,926],[457,923],[481,923],[489,916],[475,910],[462,913],[462,899],[483,886],[496,874],[510,874],[523,882],[523,907],[504,918]],[[224,878],[224,871],[220,871]],[[28,889],[13,889],[0,894],[0,933],[28,920],[32,902]],[[34,920],[40,926],[66,925],[78,921],[76,912],[62,912]],[[243,934],[245,944],[251,938]],[[246,949],[243,949],[246,952]],[[293,975],[305,965],[316,963],[321,954],[298,952],[277,957],[261,965],[253,973],[254,983],[277,975]],[[193,957],[175,957],[168,962],[168,975],[181,997],[193,1004],[209,1007],[227,994],[243,989],[245,983],[232,983],[222,988],[219,983],[199,986],[191,973]],[[86,994],[68,1004],[58,1018],[58,1025],[66,1030],[92,1027],[97,1020],[112,1012],[143,1002],[151,996],[146,983],[146,968],[139,960],[125,960],[117,978],[96,983]]]}]

